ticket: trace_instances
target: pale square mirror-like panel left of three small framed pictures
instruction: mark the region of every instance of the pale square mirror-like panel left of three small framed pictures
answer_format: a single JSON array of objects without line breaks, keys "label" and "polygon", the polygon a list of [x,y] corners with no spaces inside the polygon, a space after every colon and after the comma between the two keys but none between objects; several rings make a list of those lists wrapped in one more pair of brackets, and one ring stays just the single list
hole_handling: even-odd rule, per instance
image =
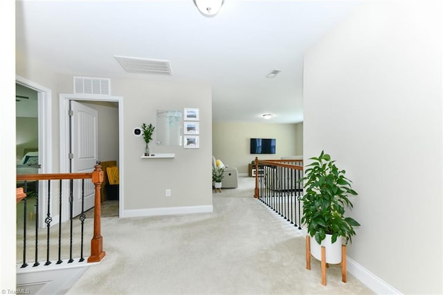
[{"label": "pale square mirror-like panel left of three small framed pictures", "polygon": [[183,111],[157,110],[155,134],[158,145],[183,145]]}]

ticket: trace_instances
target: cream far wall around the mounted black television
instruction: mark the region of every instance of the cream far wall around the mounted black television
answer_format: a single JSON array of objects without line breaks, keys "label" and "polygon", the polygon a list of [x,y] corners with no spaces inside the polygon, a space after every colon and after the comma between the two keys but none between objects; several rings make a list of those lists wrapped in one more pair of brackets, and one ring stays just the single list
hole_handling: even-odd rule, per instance
[{"label": "cream far wall around the mounted black television", "polygon": [[[213,123],[213,155],[223,163],[248,172],[248,163],[302,154],[302,123]],[[275,138],[275,154],[250,154],[250,138]]]}]

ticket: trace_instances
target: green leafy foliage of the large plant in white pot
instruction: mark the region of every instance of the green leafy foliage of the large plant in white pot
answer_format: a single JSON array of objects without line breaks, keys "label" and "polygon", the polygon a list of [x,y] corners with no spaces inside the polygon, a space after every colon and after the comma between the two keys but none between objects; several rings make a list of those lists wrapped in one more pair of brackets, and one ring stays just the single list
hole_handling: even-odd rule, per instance
[{"label": "green leafy foliage of the large plant in white pot", "polygon": [[302,223],[307,225],[309,235],[318,244],[332,235],[332,242],[342,236],[352,242],[355,235],[354,226],[360,226],[352,217],[345,217],[345,208],[352,208],[348,195],[357,195],[351,188],[350,179],[345,177],[345,170],[338,170],[335,161],[323,151],[305,170],[305,195],[302,197]]}]

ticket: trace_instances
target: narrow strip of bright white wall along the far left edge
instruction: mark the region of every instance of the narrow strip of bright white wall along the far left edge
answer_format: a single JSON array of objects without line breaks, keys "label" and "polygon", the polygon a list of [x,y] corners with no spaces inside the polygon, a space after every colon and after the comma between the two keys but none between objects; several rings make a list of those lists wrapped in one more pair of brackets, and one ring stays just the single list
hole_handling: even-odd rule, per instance
[{"label": "narrow strip of bright white wall along the far left edge", "polygon": [[[15,1],[0,1],[0,289],[15,290]],[[11,210],[12,209],[12,210]]]}]

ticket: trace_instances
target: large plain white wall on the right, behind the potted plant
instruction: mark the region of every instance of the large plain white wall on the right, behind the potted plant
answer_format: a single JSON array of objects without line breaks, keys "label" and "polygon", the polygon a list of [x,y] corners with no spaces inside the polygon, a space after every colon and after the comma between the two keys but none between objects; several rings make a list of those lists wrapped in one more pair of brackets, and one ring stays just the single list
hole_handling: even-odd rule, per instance
[{"label": "large plain white wall on the right, behind the potted plant", "polygon": [[404,294],[442,294],[442,5],[365,3],[305,55],[305,158],[347,170],[348,256]]}]

